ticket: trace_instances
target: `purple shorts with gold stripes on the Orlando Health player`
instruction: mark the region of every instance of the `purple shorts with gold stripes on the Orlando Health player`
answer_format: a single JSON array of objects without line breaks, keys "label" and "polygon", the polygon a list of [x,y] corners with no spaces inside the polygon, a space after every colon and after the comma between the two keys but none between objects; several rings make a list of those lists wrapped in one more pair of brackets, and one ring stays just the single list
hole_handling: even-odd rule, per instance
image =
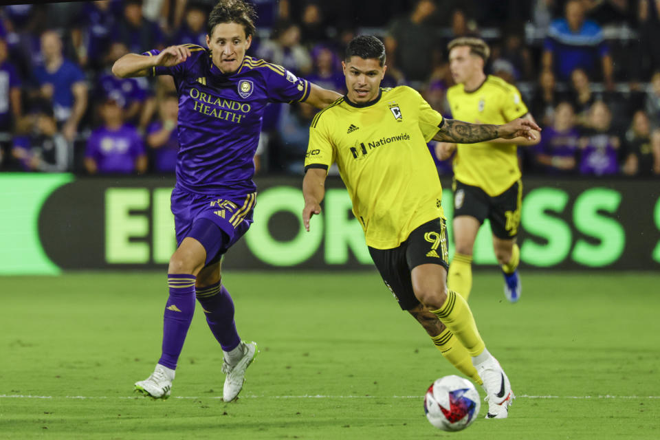
[{"label": "purple shorts with gold stripes on the Orlando Health player", "polygon": [[176,186],[172,191],[171,208],[174,214],[174,228],[177,233],[177,246],[189,236],[192,224],[198,219],[208,219],[215,223],[227,236],[216,255],[207,255],[206,261],[219,261],[229,248],[248,232],[252,224],[252,212],[256,202],[256,192],[241,196],[212,196],[188,192]]}]

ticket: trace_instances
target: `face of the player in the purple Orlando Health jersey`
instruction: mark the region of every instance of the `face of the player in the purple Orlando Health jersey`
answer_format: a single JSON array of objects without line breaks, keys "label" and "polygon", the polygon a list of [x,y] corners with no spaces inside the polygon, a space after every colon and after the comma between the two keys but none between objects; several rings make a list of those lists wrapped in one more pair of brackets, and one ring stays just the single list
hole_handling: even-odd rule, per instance
[{"label": "face of the player in the purple Orlando Health jersey", "polygon": [[213,28],[211,36],[206,35],[213,64],[223,74],[239,69],[250,43],[252,36],[246,37],[245,29],[239,23],[219,23]]}]

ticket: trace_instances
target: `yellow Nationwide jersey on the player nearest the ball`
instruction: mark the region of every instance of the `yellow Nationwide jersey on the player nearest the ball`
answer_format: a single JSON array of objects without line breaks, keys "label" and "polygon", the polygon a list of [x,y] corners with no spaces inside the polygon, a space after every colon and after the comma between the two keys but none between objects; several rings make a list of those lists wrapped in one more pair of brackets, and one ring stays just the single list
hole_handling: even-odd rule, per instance
[{"label": "yellow Nationwide jersey on the player nearest the ball", "polygon": [[366,104],[342,97],[311,122],[305,170],[327,170],[336,162],[366,244],[397,248],[412,230],[444,218],[442,187],[426,145],[443,122],[406,86],[381,88]]}]

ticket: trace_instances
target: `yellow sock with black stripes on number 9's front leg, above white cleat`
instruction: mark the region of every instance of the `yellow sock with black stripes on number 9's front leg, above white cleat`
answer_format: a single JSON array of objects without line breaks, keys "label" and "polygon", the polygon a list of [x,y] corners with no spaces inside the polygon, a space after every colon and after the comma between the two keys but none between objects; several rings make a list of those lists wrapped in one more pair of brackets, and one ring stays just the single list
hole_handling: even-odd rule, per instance
[{"label": "yellow sock with black stripes on number 9's front leg, above white cleat", "polygon": [[470,306],[463,297],[452,290],[447,292],[447,300],[437,310],[431,310],[431,313],[450,329],[454,336],[467,349],[467,353],[474,357],[480,355],[485,349],[485,344],[479,331],[476,329],[474,316]]}]

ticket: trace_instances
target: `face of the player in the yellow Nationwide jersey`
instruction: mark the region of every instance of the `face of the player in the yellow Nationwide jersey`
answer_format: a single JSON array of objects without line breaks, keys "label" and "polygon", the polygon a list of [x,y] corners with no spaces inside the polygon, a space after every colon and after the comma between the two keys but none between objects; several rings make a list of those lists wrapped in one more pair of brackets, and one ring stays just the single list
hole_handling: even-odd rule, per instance
[{"label": "face of the player in the yellow Nationwide jersey", "polygon": [[346,76],[349,100],[353,102],[375,100],[387,66],[380,65],[380,61],[376,58],[364,59],[359,56],[351,56],[348,63],[342,61],[342,67],[344,67],[344,76]]}]

